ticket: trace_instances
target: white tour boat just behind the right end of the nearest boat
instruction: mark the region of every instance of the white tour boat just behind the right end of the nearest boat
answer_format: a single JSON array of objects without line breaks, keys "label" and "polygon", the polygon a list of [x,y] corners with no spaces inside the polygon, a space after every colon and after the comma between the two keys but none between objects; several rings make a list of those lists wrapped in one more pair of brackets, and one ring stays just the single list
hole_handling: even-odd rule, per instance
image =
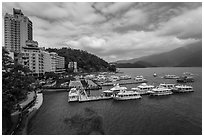
[{"label": "white tour boat just behind the right end of the nearest boat", "polygon": [[136,88],[132,88],[131,90],[138,92],[140,95],[144,95],[148,94],[148,91],[151,91],[153,88],[153,85],[147,85],[146,83],[142,83]]}]

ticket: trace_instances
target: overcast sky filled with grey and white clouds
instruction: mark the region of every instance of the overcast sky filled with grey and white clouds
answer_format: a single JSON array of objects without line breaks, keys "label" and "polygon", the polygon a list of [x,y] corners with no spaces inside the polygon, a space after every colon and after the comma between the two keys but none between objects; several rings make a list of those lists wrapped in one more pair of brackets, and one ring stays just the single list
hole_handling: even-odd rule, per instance
[{"label": "overcast sky filled with grey and white clouds", "polygon": [[106,61],[131,59],[201,41],[202,3],[3,3],[33,22],[41,47],[86,50]]}]

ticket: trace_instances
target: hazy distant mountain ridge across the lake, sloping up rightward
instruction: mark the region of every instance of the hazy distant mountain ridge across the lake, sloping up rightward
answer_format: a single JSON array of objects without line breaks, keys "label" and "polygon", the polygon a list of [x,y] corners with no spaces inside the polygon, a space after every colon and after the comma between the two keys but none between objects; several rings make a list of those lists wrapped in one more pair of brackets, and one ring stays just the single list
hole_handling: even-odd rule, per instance
[{"label": "hazy distant mountain ridge across the lake, sloping up rightward", "polygon": [[[201,67],[202,66],[202,41],[176,48],[169,52],[153,54],[130,60],[119,60],[115,63],[117,67],[124,67],[125,64],[131,67],[137,67],[140,64],[143,67]],[[130,65],[131,64],[131,65]],[[140,66],[141,67],[141,66]]]}]

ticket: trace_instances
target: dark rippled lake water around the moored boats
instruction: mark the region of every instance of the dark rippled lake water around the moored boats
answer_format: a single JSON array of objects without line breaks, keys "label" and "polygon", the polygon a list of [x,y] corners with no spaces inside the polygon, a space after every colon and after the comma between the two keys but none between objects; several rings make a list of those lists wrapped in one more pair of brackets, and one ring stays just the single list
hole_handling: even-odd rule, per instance
[{"label": "dark rippled lake water around the moored boats", "polygon": [[[202,68],[125,68],[123,74],[143,75],[148,84],[176,83],[160,78],[192,72],[195,92],[142,96],[140,100],[68,103],[67,92],[45,92],[43,105],[28,126],[28,134],[188,135],[202,134]],[[153,73],[158,77],[153,77]],[[125,85],[128,89],[138,84]],[[102,90],[109,89],[105,87]],[[101,91],[92,91],[99,95]]]}]

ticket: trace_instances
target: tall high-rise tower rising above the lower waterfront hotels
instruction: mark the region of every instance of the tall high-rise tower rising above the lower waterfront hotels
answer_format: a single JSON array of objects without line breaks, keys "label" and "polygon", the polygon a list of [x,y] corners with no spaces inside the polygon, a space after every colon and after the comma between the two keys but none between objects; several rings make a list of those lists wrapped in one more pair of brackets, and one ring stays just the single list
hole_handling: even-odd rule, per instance
[{"label": "tall high-rise tower rising above the lower waterfront hotels", "polygon": [[13,9],[13,15],[4,16],[4,44],[11,52],[21,52],[27,40],[33,40],[31,20],[21,10]]}]

